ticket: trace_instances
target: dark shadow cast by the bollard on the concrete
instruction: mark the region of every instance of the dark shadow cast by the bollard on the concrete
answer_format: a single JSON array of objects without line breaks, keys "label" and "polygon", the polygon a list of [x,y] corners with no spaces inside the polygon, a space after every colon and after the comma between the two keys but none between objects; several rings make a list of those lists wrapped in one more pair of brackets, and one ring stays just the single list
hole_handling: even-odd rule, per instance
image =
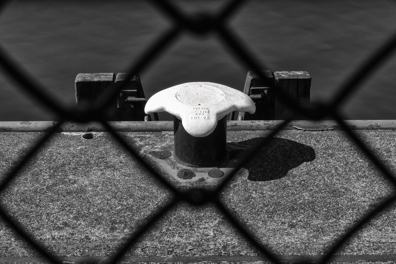
[{"label": "dark shadow cast by the bollard on the concrete", "polygon": [[[229,151],[230,159],[241,159],[249,149],[257,146],[262,140],[263,138],[253,138],[231,143],[234,149]],[[259,151],[245,168],[249,170],[249,180],[257,182],[276,180],[286,176],[292,168],[313,161],[315,157],[315,150],[308,145],[283,138],[273,138],[270,145]]]}]

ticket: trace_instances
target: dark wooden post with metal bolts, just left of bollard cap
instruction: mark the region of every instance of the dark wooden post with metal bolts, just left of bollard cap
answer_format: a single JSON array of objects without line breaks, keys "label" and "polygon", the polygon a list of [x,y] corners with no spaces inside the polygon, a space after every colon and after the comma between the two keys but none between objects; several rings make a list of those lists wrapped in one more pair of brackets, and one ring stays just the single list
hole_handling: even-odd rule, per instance
[{"label": "dark wooden post with metal bolts, just left of bollard cap", "polygon": [[[116,76],[116,83],[125,80],[128,73],[118,73]],[[143,121],[145,120],[145,100],[139,100],[139,98],[145,98],[143,92],[142,84],[140,82],[139,75],[135,75],[130,80],[124,88],[120,91],[119,96],[124,100],[127,96],[135,97],[135,101],[126,102],[123,105],[118,103],[116,108],[116,121]]]}]

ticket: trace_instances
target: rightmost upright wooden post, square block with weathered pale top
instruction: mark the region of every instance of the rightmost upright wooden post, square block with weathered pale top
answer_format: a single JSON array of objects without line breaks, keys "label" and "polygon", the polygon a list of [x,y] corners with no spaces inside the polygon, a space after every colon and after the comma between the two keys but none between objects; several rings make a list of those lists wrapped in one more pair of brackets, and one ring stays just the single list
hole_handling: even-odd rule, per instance
[{"label": "rightmost upright wooden post, square block with weathered pale top", "polygon": [[[284,94],[300,103],[308,105],[310,103],[311,76],[306,71],[276,71],[275,88],[282,90]],[[290,114],[289,109],[285,107],[279,99],[275,99],[274,120],[284,120],[286,115]],[[297,116],[297,119],[302,117]]]}]

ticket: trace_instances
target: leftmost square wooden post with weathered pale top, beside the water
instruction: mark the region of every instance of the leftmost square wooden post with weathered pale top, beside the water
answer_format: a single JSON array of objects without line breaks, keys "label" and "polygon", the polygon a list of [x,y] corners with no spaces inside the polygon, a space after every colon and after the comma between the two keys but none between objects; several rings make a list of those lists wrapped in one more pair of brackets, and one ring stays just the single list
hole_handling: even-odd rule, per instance
[{"label": "leftmost square wooden post with weathered pale top, beside the water", "polygon": [[[77,105],[89,108],[101,94],[109,90],[114,78],[114,73],[79,73],[74,82]],[[114,98],[114,102],[105,110],[108,121],[116,121],[116,102]]]}]

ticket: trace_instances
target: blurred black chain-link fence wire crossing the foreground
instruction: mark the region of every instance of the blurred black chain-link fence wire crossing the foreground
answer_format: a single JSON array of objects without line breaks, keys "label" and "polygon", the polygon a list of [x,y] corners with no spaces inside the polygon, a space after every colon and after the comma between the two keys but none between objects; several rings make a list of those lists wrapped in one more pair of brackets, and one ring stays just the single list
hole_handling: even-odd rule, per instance
[{"label": "blurred black chain-link fence wire crossing the foreground", "polygon": [[[4,3],[5,1],[3,1]],[[240,41],[238,36],[234,33],[232,29],[228,27],[227,20],[230,15],[236,11],[243,4],[242,0],[231,0],[227,3],[225,8],[223,8],[217,15],[209,15],[209,14],[201,14],[199,16],[190,17],[185,15],[185,13],[181,12],[176,6],[174,6],[171,2],[167,0],[152,0],[152,4],[158,7],[164,14],[168,15],[169,19],[174,22],[174,27],[169,29],[168,31],[162,33],[162,35],[158,36],[156,41],[154,41],[150,47],[145,50],[140,59],[134,61],[130,67],[126,70],[129,75],[124,78],[124,80],[129,80],[137,73],[143,72],[147,69],[153,60],[160,55],[164,50],[170,46],[176,39],[177,36],[190,32],[194,33],[198,36],[205,36],[208,33],[214,33],[217,35],[219,41],[223,44],[225,48],[232,51],[232,54],[236,57],[236,59],[252,71],[255,71],[263,80],[266,80],[266,77],[262,74],[262,69],[268,69],[263,64],[257,63],[255,58],[247,52],[247,47]],[[388,57],[391,52],[396,47],[396,34],[391,36],[389,40],[384,43],[377,51],[371,55],[371,57],[367,58],[366,61],[354,71],[352,76],[348,77],[345,82],[339,87],[337,93],[333,97],[333,99],[326,104],[317,104],[302,106],[291,100],[287,94],[283,94],[279,90],[275,90],[275,96],[278,100],[282,101],[284,105],[287,105],[291,112],[296,115],[303,115],[308,120],[323,120],[327,117],[330,117],[337,121],[340,126],[345,130],[346,134],[350,137],[350,139],[358,146],[360,149],[367,155],[367,157],[371,160],[371,162],[377,167],[377,169],[382,173],[382,175],[389,180],[396,187],[396,178],[392,173],[384,166],[383,162],[379,160],[366,146],[358,136],[347,126],[347,124],[343,121],[343,117],[340,115],[340,106],[350,97],[352,94],[358,90],[360,84],[362,84],[363,80],[369,77],[369,74],[373,72],[378,65],[381,65],[381,62]],[[227,185],[228,182],[236,175],[238,170],[243,166],[247,165],[249,161],[251,161],[252,157],[255,155],[257,151],[267,146],[268,143],[271,142],[273,137],[286,126],[286,124],[293,120],[293,116],[289,116],[288,119],[282,122],[282,124],[276,127],[276,130],[273,130],[267,137],[265,137],[260,144],[258,144],[254,149],[252,149],[245,157],[242,159],[240,164],[236,166],[229,174],[225,176],[225,179],[219,184],[219,186],[214,190],[208,189],[189,189],[188,191],[180,191],[176,189],[173,185],[169,184],[169,182],[159,174],[154,168],[152,168],[145,159],[139,156],[137,151],[133,149],[126,140],[118,134],[112,126],[104,119],[103,109],[107,105],[109,105],[112,101],[112,98],[117,96],[118,92],[123,89],[126,85],[126,81],[117,82],[114,85],[114,89],[112,89],[112,96],[103,96],[98,100],[96,105],[92,105],[89,109],[79,109],[77,107],[73,107],[71,109],[65,109],[60,107],[51,99],[51,97],[46,94],[44,89],[40,87],[39,84],[36,83],[34,78],[31,78],[27,73],[25,73],[22,69],[20,69],[15,61],[11,59],[8,54],[0,48],[0,64],[8,77],[14,79],[18,84],[19,88],[30,94],[30,96],[38,99],[42,105],[45,105],[49,109],[51,109],[54,113],[57,114],[58,120],[56,124],[48,131],[38,142],[23,156],[16,166],[10,170],[10,172],[3,178],[0,185],[0,192],[4,191],[8,184],[17,176],[18,172],[21,168],[37,153],[37,151],[46,143],[49,138],[57,131],[59,126],[65,121],[74,121],[74,122],[92,122],[99,121],[107,128],[107,130],[114,136],[114,138],[133,156],[137,161],[139,161],[145,169],[148,170],[152,174],[153,177],[157,178],[166,186],[169,190],[173,192],[173,200],[168,203],[168,205],[164,206],[157,212],[153,214],[153,216],[143,225],[139,230],[134,233],[129,239],[124,243],[122,247],[120,247],[117,253],[109,260],[109,263],[115,263],[121,260],[122,256],[127,252],[129,248],[131,248],[135,243],[137,243],[139,237],[145,233],[145,231],[150,228],[156,221],[158,221],[168,210],[175,207],[180,202],[187,202],[190,205],[194,206],[202,206],[208,203],[215,205],[220,212],[224,214],[224,216],[228,219],[228,221],[240,231],[240,233],[252,244],[254,245],[266,259],[269,259],[273,263],[280,263],[280,260],[276,258],[274,254],[270,252],[265,246],[261,245],[261,243],[255,239],[255,237],[247,231],[243,225],[237,220],[237,218],[225,207],[225,205],[219,199],[219,193],[221,190]],[[268,82],[268,86],[271,86],[271,83]],[[342,237],[339,237],[337,243],[335,243],[326,254],[323,255],[321,263],[328,262],[331,259],[331,256],[335,254],[337,250],[339,250],[343,244],[354,235],[357,231],[359,231],[364,224],[369,222],[374,216],[382,212],[384,209],[389,207],[394,203],[396,199],[396,195],[392,195],[387,198],[383,203],[381,203],[378,207],[371,210],[368,214],[362,217],[352,228],[350,228]],[[15,230],[21,238],[30,243],[34,249],[36,249],[40,254],[46,257],[50,262],[53,263],[61,263],[56,256],[51,255],[47,252],[41,245],[39,245],[34,238],[30,237],[30,235],[23,230],[17,223],[13,222],[11,216],[8,214],[3,207],[0,207],[0,215],[4,221],[6,221],[12,228]]]}]

